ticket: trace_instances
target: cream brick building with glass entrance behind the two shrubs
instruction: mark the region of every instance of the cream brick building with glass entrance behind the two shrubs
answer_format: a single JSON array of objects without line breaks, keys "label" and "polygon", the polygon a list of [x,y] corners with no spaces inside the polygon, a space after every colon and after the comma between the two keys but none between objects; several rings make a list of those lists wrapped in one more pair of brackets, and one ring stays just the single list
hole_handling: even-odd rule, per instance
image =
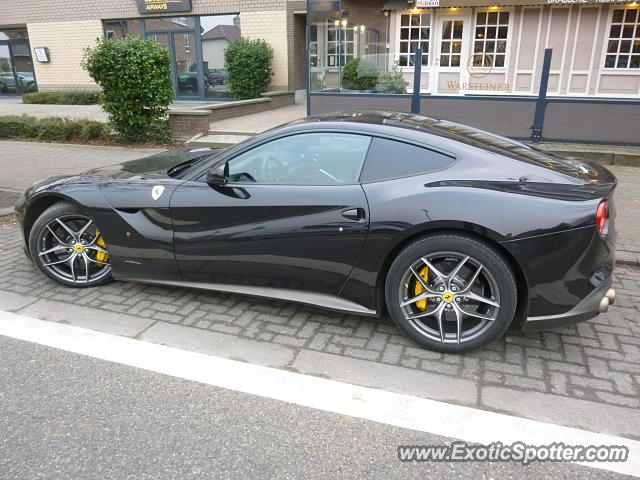
[{"label": "cream brick building with glass entrance behind the two shrubs", "polygon": [[[175,10],[158,13],[167,5]],[[261,38],[273,47],[271,89],[304,88],[305,12],[304,0],[3,2],[0,95],[36,88],[40,91],[93,90],[96,85],[80,67],[84,49],[103,35],[142,34],[164,44],[172,53],[178,97],[224,97],[226,88],[220,85],[221,74],[217,72],[219,61],[210,68],[202,47],[202,36],[216,28],[224,30],[224,26],[234,26],[243,37]],[[219,44],[224,48],[225,42]],[[37,58],[34,49],[40,47],[46,47],[49,61]],[[221,52],[213,51],[208,54],[215,59],[220,55]]]}]

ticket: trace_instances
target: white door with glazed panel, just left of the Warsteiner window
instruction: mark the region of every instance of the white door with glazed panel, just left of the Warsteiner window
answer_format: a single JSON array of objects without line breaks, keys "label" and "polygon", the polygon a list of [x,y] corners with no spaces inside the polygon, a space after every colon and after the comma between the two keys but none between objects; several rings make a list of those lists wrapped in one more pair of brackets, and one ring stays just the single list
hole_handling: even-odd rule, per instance
[{"label": "white door with glazed panel, just left of the Warsteiner window", "polygon": [[467,16],[455,15],[439,19],[432,92],[455,95],[465,90],[463,84],[468,83],[468,26]]}]

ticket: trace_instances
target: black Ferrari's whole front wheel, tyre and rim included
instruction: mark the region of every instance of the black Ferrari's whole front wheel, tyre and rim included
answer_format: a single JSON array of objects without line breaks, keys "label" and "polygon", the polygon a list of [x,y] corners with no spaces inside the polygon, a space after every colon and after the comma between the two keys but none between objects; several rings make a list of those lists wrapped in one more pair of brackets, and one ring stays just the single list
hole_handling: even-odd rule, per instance
[{"label": "black Ferrari's whole front wheel, tyre and rim included", "polygon": [[63,285],[93,287],[111,280],[100,229],[71,203],[56,203],[38,217],[29,233],[29,252],[40,270]]}]

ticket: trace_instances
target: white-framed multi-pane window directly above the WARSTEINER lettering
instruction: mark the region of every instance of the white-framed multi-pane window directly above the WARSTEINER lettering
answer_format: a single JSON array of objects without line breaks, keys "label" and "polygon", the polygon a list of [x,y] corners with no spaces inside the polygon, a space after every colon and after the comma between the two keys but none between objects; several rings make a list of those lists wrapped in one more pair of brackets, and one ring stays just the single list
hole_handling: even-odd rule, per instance
[{"label": "white-framed multi-pane window directly above the WARSTEINER lettering", "polygon": [[473,39],[473,66],[505,66],[509,12],[478,12]]}]

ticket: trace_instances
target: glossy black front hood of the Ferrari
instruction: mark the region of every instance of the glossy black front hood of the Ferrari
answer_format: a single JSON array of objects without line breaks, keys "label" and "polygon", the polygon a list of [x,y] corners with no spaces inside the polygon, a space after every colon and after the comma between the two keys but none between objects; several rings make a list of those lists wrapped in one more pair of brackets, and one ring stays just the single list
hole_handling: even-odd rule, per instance
[{"label": "glossy black front hood of the Ferrari", "polygon": [[129,160],[107,167],[94,168],[83,175],[102,178],[128,179],[133,177],[168,177],[167,171],[180,163],[209,156],[216,148],[182,148],[156,153],[149,157]]}]

